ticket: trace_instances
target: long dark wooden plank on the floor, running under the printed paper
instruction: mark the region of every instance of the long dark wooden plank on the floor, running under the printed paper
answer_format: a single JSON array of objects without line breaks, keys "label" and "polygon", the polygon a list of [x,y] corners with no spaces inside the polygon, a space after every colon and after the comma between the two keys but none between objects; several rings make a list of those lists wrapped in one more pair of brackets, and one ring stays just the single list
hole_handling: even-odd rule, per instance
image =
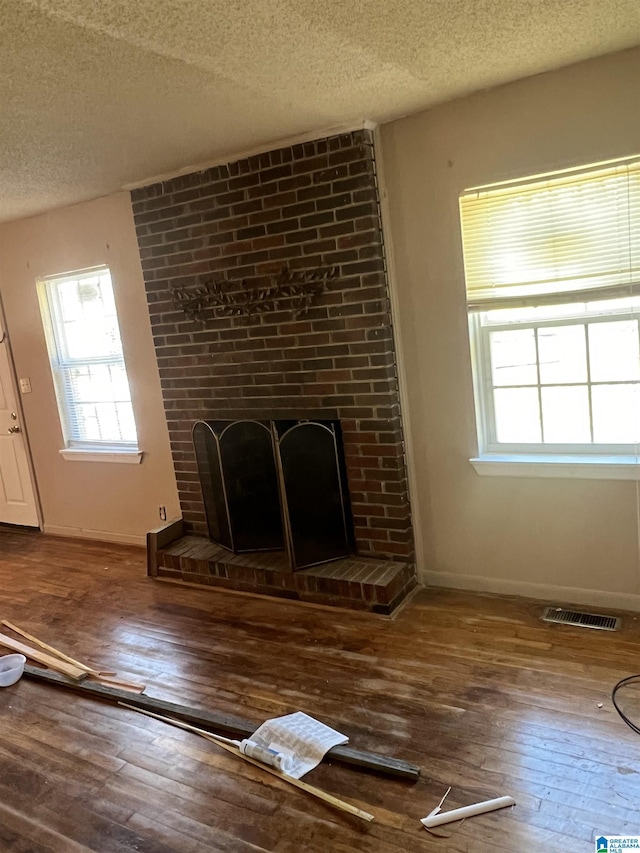
[{"label": "long dark wooden plank on the floor, running under the printed paper", "polygon": [[[165,702],[162,699],[154,699],[152,696],[138,696],[127,693],[124,690],[116,690],[115,688],[107,687],[103,684],[94,684],[89,681],[83,681],[82,683],[69,681],[55,672],[47,672],[36,667],[25,666],[24,674],[36,681],[53,684],[57,687],[66,687],[70,690],[79,691],[86,696],[94,696],[96,699],[103,699],[116,704],[125,702],[134,708],[175,717],[178,720],[183,720],[200,728],[211,729],[213,734],[245,738],[252,735],[257,728],[256,723],[251,723],[248,720],[243,720],[241,717],[235,717],[231,714],[189,708],[186,705]],[[363,770],[370,770],[374,773],[384,774],[385,776],[396,776],[412,782],[417,781],[420,776],[420,768],[414,764],[409,764],[407,761],[399,758],[391,758],[386,755],[378,755],[377,753],[362,752],[361,750],[344,745],[332,747],[327,753],[327,758],[341,764],[350,764],[353,767],[360,767]]]}]

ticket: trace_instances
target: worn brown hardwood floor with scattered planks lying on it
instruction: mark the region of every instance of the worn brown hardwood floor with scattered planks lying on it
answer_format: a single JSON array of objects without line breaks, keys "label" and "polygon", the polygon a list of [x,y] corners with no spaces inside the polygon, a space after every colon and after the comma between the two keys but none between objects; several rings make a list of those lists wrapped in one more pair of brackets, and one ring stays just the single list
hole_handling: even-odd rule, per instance
[{"label": "worn brown hardwood floor with scattered planks lying on it", "polygon": [[[0,689],[1,851],[586,853],[640,834],[640,737],[609,698],[640,672],[640,616],[598,632],[542,623],[531,601],[424,590],[390,620],[145,572],[137,548],[0,530],[0,618],[151,696],[256,725],[304,710],[422,778],[305,777],[364,823],[189,732],[23,678]],[[640,687],[620,701],[640,721]],[[517,805],[436,838],[419,819],[450,785],[445,809]]]}]

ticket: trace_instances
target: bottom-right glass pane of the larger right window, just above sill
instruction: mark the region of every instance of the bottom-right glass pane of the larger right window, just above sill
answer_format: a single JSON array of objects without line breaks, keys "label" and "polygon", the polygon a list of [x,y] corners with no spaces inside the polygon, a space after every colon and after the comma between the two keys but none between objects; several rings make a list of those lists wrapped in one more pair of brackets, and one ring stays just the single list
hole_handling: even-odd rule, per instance
[{"label": "bottom-right glass pane of the larger right window, just above sill", "polygon": [[601,444],[640,441],[637,385],[596,385],[592,389],[593,440]]}]

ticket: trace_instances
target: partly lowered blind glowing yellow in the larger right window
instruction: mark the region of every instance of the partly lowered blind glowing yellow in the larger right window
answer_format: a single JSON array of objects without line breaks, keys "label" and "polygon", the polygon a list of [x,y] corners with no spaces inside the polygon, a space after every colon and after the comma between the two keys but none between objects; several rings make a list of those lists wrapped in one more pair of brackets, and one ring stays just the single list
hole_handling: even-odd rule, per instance
[{"label": "partly lowered blind glowing yellow in the larger right window", "polygon": [[460,197],[471,311],[640,292],[640,159]]}]

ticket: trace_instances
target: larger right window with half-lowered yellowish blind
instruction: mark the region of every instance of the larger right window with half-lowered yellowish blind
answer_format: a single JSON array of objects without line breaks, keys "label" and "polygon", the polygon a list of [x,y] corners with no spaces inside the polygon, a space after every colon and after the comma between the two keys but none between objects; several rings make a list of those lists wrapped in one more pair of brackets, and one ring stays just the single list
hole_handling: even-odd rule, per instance
[{"label": "larger right window with half-lowered yellowish blind", "polygon": [[640,160],[460,198],[479,451],[640,443]]}]

